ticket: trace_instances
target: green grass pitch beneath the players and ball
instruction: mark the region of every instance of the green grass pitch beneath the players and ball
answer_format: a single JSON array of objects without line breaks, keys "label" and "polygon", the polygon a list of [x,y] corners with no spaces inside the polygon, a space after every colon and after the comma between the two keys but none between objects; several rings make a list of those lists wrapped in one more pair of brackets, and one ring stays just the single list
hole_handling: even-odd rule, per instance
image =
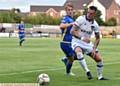
[{"label": "green grass pitch beneath the players and ball", "polygon": [[36,83],[39,74],[47,73],[49,86],[120,86],[120,39],[102,39],[99,45],[103,74],[110,78],[108,81],[97,80],[96,64],[87,56],[93,80],[86,78],[78,61],[72,67],[76,76],[66,76],[59,42],[60,39],[26,38],[19,47],[17,38],[0,38],[0,83]]}]

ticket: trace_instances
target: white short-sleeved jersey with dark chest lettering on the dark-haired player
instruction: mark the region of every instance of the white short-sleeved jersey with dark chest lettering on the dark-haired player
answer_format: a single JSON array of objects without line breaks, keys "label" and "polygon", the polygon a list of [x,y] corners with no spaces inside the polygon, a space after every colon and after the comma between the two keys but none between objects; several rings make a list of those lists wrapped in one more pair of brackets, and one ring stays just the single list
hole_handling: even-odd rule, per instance
[{"label": "white short-sleeved jersey with dark chest lettering on the dark-haired player", "polygon": [[88,21],[86,16],[79,16],[75,25],[78,27],[78,34],[81,38],[90,38],[93,32],[99,32],[99,26],[95,20]]}]

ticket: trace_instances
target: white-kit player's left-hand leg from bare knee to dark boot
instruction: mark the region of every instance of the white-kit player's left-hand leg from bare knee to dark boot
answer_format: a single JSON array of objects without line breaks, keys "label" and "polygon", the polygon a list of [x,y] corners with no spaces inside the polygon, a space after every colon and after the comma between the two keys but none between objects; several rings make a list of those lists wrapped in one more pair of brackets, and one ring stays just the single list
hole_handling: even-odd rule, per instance
[{"label": "white-kit player's left-hand leg from bare knee to dark boot", "polygon": [[75,52],[77,54],[77,59],[80,62],[80,65],[86,71],[86,75],[87,75],[88,79],[92,79],[92,75],[90,73],[90,70],[88,69],[87,63],[83,57],[82,49],[80,47],[76,47]]}]

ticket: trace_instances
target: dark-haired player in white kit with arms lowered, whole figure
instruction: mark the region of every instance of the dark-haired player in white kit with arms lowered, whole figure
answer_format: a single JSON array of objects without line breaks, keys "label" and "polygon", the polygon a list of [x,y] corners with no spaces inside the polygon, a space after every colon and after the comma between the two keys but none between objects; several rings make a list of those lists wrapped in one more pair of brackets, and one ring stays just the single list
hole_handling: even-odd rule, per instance
[{"label": "dark-haired player in white kit with arms lowered, whole figure", "polygon": [[[102,75],[103,61],[97,50],[97,46],[100,42],[100,33],[99,25],[94,20],[96,11],[97,8],[95,6],[90,6],[86,15],[79,16],[76,19],[75,25],[71,30],[71,34],[73,35],[72,48],[75,50],[77,58],[83,69],[86,71],[86,74],[90,75],[90,79],[92,79],[92,75],[87,68],[83,54],[89,55],[97,63],[98,80],[107,80]],[[95,33],[94,44],[90,41],[93,32]]]}]

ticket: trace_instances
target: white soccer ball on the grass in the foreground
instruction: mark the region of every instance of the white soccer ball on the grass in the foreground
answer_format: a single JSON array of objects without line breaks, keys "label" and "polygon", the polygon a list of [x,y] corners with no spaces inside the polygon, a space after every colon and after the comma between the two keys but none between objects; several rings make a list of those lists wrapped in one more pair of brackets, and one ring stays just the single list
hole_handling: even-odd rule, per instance
[{"label": "white soccer ball on the grass in the foreground", "polygon": [[39,85],[47,85],[50,82],[50,77],[48,74],[42,73],[38,76],[38,84]]}]

